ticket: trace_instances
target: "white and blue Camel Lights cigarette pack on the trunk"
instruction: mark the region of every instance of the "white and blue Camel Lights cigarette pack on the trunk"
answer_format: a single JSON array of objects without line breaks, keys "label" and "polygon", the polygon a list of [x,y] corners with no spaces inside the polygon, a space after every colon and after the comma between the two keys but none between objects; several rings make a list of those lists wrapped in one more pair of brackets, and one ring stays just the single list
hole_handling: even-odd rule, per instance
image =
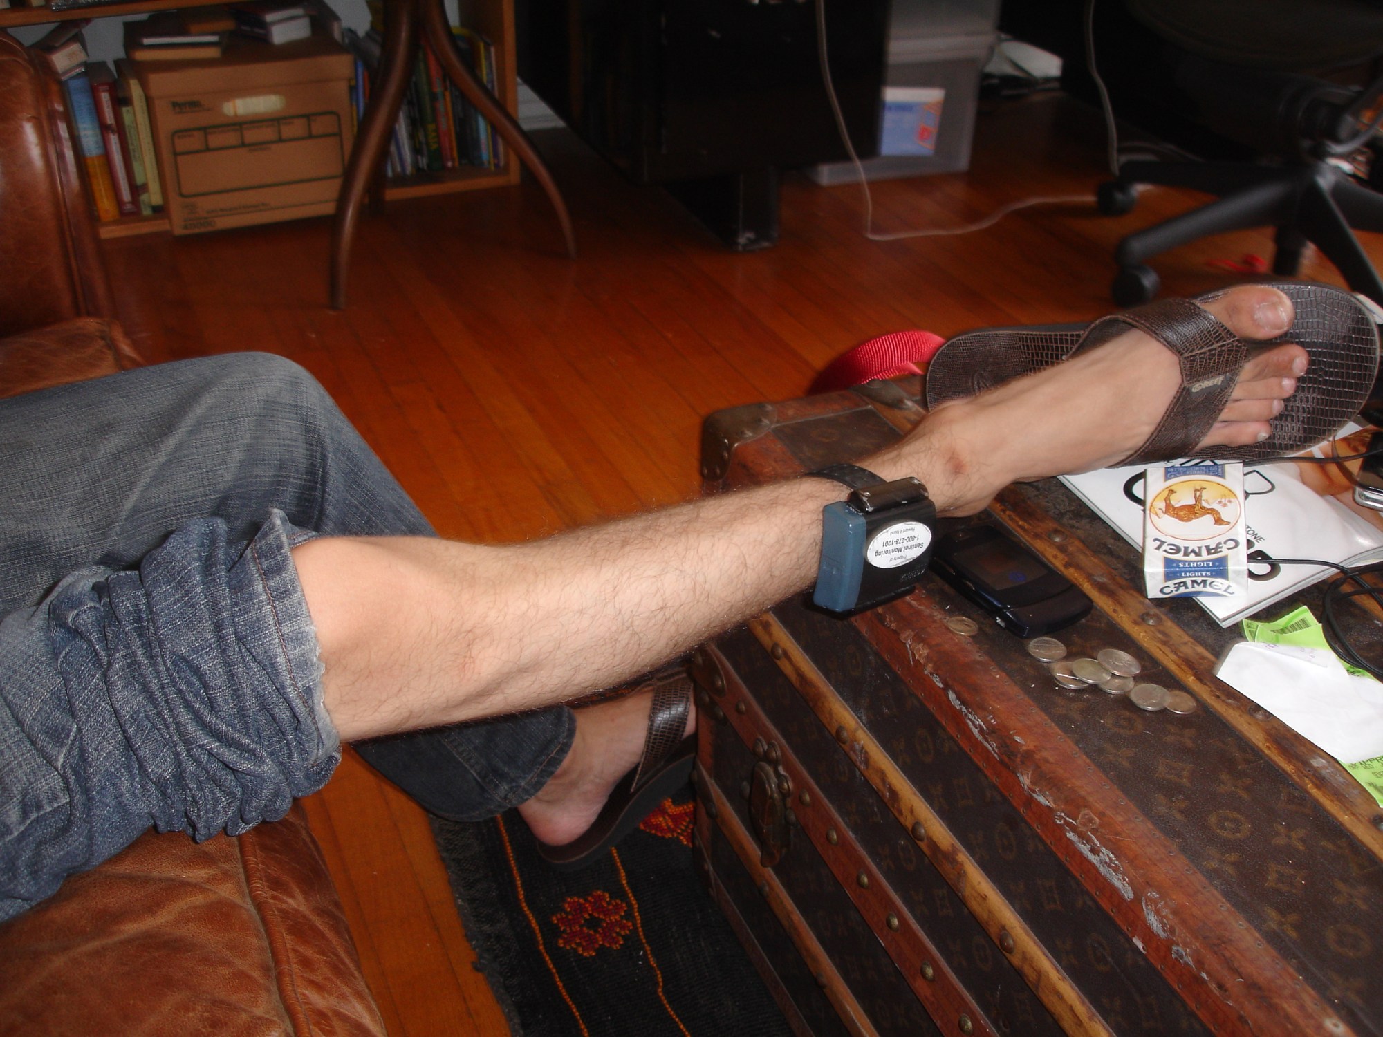
[{"label": "white and blue Camel Lights cigarette pack on the trunk", "polygon": [[1239,597],[1249,585],[1243,465],[1148,469],[1142,571],[1148,597]]}]

